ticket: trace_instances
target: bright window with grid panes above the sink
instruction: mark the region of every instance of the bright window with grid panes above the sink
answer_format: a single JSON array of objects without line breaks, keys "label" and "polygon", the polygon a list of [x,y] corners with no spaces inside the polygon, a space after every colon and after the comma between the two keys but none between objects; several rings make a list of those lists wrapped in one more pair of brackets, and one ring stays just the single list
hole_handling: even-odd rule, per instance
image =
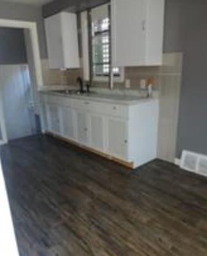
[{"label": "bright window with grid panes above the sink", "polygon": [[[92,70],[93,80],[107,81],[110,75],[110,19],[108,5],[92,10]],[[122,82],[122,68],[113,68],[115,82]]]}]

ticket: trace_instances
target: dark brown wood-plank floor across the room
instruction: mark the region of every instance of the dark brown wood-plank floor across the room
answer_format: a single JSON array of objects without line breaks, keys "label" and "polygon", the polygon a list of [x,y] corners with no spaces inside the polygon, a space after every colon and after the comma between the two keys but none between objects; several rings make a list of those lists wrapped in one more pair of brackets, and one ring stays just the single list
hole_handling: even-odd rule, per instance
[{"label": "dark brown wood-plank floor across the room", "polygon": [[[0,149],[21,256],[207,255],[207,179],[45,136]],[[6,256],[6,255],[4,255]]]}]

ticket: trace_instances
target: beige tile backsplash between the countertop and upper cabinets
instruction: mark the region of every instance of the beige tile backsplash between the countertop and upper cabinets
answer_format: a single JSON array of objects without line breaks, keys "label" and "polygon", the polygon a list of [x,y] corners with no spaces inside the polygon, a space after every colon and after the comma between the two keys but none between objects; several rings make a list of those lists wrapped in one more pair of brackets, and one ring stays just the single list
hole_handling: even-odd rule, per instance
[{"label": "beige tile backsplash between the countertop and upper cabinets", "polygon": [[[54,85],[75,85],[76,77],[83,75],[82,68],[58,70],[49,69],[48,60],[42,60],[42,71],[45,86]],[[126,89],[125,81],[130,80],[131,90],[140,90],[141,79],[153,80],[154,89],[158,90],[161,83],[166,81],[163,77],[173,79],[176,75],[181,75],[182,71],[182,53],[164,53],[163,65],[161,67],[125,67],[124,82],[115,83],[115,89]],[[171,76],[171,77],[170,77]],[[107,82],[93,82],[93,87],[107,88]]]}]

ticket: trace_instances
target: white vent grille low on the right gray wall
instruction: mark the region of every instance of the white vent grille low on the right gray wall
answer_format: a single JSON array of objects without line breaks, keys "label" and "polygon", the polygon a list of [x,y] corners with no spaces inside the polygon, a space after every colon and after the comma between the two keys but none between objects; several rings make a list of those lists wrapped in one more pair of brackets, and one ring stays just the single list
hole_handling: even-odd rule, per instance
[{"label": "white vent grille low on the right gray wall", "polygon": [[207,177],[207,156],[191,151],[182,151],[180,168]]}]

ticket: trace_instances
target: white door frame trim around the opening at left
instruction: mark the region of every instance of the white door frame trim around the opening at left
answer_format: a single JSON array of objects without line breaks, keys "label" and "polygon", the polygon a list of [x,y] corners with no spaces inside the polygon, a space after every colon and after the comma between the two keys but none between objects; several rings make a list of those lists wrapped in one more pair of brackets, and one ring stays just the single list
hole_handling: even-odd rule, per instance
[{"label": "white door frame trim around the opening at left", "polygon": [[[40,59],[40,48],[38,42],[38,33],[37,33],[37,22],[27,22],[21,20],[7,20],[7,19],[0,19],[0,27],[7,27],[13,29],[27,29],[30,34],[30,39],[32,43],[32,56],[33,56],[33,68],[35,74],[35,80],[37,81],[37,91],[40,87],[43,86],[43,79],[42,79],[42,65]],[[0,91],[0,127],[2,130],[3,139],[0,140],[1,144],[8,143],[8,138],[6,134],[6,125],[5,125],[5,118],[3,113],[3,102],[1,99],[1,91]]]}]

